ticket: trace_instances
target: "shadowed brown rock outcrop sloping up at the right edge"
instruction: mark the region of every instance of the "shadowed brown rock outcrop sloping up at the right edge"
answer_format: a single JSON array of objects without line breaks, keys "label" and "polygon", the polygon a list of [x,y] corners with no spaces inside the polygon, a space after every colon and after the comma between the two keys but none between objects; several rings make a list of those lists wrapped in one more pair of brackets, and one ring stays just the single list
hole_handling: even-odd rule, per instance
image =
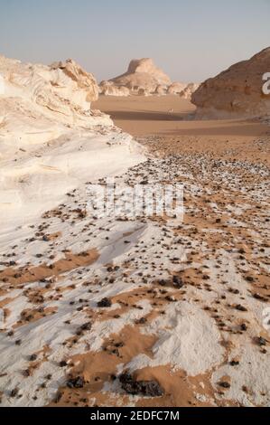
[{"label": "shadowed brown rock outcrop sloping up at the right edge", "polygon": [[265,95],[263,75],[270,71],[270,48],[241,61],[206,80],[191,97],[202,115],[243,115],[247,117],[270,114],[270,96]]}]

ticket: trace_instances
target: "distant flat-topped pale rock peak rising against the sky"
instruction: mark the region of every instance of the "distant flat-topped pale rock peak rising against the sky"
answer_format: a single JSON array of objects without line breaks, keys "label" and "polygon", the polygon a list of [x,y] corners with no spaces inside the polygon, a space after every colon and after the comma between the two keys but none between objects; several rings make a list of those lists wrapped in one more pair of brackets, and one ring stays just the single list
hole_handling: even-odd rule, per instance
[{"label": "distant flat-topped pale rock peak rising against the sky", "polygon": [[134,93],[138,93],[139,90],[144,90],[146,93],[154,93],[158,86],[172,84],[170,77],[157,68],[152,59],[135,59],[131,61],[125,74],[111,81],[116,86],[125,86]]}]

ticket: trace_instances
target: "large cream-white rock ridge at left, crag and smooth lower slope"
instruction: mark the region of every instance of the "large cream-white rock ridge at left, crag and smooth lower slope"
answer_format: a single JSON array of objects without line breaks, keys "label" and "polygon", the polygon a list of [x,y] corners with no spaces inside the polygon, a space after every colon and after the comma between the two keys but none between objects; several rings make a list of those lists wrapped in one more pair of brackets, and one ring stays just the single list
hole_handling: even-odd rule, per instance
[{"label": "large cream-white rock ridge at left, crag and smooth lower slope", "polygon": [[1,230],[90,178],[140,162],[132,137],[90,109],[98,83],[75,61],[45,66],[1,56],[0,77]]}]

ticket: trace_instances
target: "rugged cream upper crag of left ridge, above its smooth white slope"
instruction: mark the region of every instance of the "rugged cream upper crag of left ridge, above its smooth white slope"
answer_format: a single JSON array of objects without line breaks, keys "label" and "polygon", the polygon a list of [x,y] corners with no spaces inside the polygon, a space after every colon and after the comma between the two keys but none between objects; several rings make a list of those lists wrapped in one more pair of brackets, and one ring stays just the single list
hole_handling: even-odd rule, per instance
[{"label": "rugged cream upper crag of left ridge, above its smooth white slope", "polygon": [[98,83],[75,61],[45,66],[0,56],[0,77],[0,140],[5,138],[5,145],[9,140],[11,150],[17,140],[43,143],[68,128],[113,124],[90,109]]}]

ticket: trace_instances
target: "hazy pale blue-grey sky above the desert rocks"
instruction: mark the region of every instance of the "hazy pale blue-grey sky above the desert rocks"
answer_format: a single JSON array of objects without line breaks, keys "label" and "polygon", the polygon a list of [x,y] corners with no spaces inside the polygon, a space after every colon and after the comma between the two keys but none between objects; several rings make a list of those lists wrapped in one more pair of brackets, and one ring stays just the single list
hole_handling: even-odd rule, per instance
[{"label": "hazy pale blue-grey sky above the desert rocks", "polygon": [[0,0],[0,54],[72,58],[98,80],[151,57],[202,81],[270,45],[270,0]]}]

